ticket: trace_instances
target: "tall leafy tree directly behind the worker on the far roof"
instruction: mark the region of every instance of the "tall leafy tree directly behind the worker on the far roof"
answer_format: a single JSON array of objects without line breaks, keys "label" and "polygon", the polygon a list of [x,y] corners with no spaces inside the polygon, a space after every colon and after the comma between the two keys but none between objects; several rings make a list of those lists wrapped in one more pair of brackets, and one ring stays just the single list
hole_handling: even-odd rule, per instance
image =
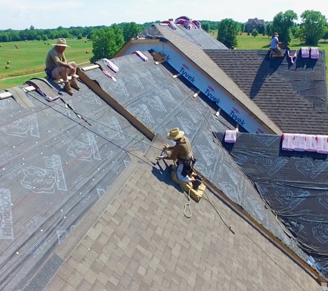
[{"label": "tall leafy tree directly behind the worker on the far roof", "polygon": [[279,12],[273,17],[272,30],[279,33],[279,41],[284,41],[287,44],[291,42],[291,28],[297,19],[298,16],[293,10],[287,10],[284,13]]}]

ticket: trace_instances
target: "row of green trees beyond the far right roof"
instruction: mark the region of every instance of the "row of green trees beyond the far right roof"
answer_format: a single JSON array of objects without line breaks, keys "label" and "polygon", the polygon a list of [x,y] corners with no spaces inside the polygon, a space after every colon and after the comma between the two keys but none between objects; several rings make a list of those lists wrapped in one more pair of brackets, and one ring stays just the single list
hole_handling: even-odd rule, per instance
[{"label": "row of green trees beyond the far right roof", "polygon": [[278,32],[279,41],[284,41],[287,45],[292,38],[300,39],[308,46],[317,46],[320,39],[328,39],[327,18],[320,11],[305,10],[300,14],[300,23],[296,23],[297,20],[298,14],[293,10],[287,10],[276,14],[273,21],[267,21],[264,26],[260,25],[249,32],[247,31],[247,23],[240,23],[233,21],[233,19],[222,19],[217,26],[217,39],[228,48],[238,46],[237,36],[242,32],[248,32],[253,37],[259,33],[271,37],[274,32]]}]

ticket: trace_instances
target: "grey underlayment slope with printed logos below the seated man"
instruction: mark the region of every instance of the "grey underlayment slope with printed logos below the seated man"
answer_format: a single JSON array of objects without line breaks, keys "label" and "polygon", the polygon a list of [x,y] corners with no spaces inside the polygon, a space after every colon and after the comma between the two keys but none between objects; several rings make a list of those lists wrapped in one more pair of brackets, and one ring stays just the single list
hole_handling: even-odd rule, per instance
[{"label": "grey underlayment slope with printed logos below the seated man", "polygon": [[[54,83],[53,85],[56,86]],[[63,243],[131,157],[148,145],[140,132],[80,84],[73,97],[48,102],[28,93],[35,107],[0,100],[0,290],[19,290]]]}]

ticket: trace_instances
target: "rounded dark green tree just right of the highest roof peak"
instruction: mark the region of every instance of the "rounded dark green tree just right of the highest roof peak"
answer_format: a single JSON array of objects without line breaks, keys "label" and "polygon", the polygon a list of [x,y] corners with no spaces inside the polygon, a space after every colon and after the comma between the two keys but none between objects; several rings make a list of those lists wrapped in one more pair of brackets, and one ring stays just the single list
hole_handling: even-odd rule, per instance
[{"label": "rounded dark green tree just right of the highest roof peak", "polygon": [[222,42],[227,48],[237,46],[237,35],[240,31],[240,25],[233,19],[222,19],[218,24],[218,41]]}]

